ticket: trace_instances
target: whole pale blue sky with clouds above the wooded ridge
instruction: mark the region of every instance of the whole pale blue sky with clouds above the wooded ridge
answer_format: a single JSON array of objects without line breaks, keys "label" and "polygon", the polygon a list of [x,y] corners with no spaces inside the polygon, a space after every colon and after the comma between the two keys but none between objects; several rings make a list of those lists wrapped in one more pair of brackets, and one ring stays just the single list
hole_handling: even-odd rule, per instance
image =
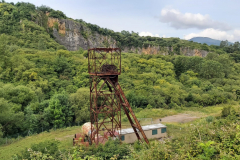
[{"label": "whole pale blue sky with clouds above the wooded ridge", "polygon": [[[17,3],[18,0],[5,0]],[[240,41],[239,0],[21,0],[140,36]]]}]

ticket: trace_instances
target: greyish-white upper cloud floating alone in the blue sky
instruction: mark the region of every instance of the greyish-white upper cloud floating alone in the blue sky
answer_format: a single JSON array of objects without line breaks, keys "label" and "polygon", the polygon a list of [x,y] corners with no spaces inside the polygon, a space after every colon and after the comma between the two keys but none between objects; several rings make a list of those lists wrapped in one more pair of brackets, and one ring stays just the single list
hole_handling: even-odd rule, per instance
[{"label": "greyish-white upper cloud floating alone in the blue sky", "polygon": [[160,21],[169,23],[171,27],[176,29],[188,28],[214,28],[221,30],[230,30],[231,27],[223,22],[218,22],[210,18],[209,15],[202,15],[200,13],[181,13],[175,9],[162,9]]}]

